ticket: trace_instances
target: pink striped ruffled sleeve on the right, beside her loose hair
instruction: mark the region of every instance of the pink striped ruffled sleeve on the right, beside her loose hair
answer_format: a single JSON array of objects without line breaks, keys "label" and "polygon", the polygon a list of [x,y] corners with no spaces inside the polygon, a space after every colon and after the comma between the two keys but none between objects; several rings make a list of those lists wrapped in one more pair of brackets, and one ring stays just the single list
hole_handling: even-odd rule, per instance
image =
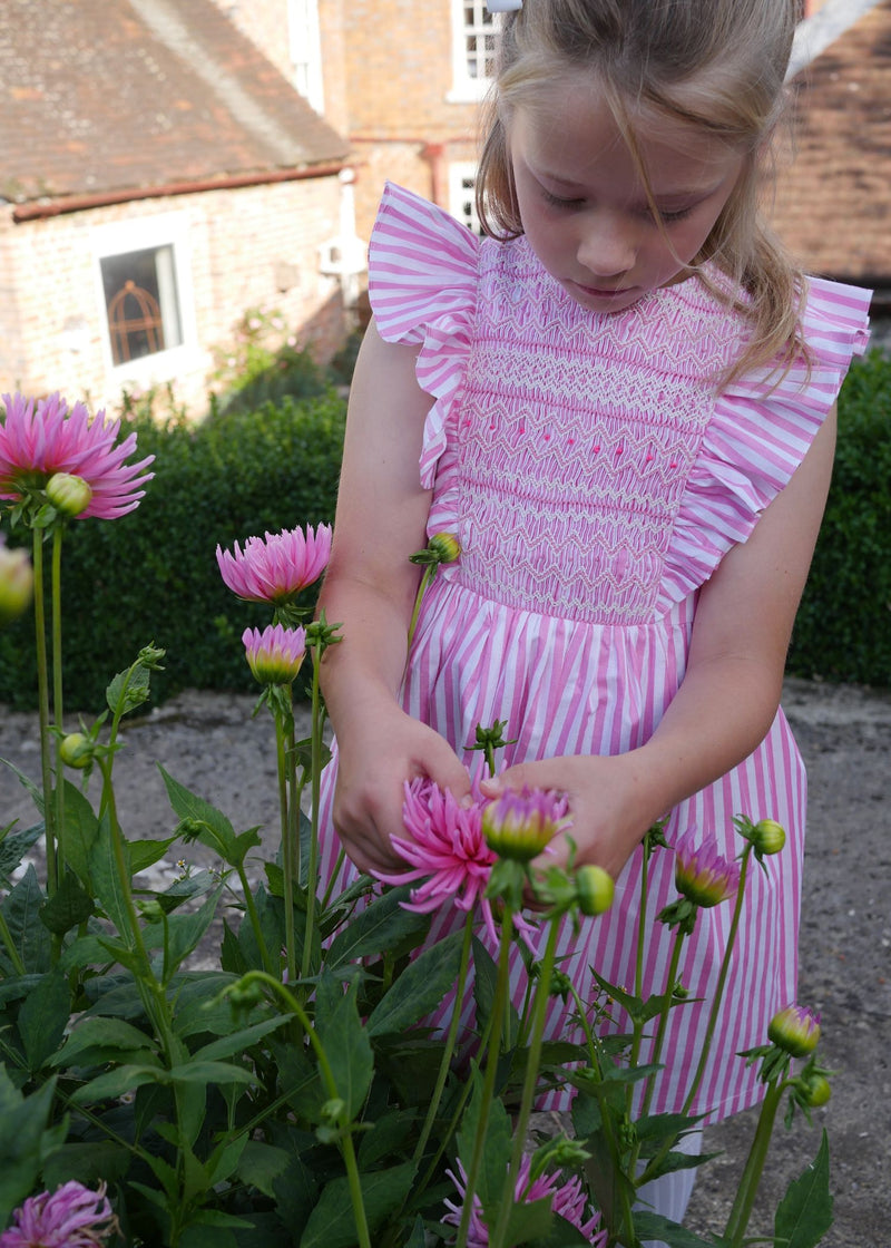
[{"label": "pink striped ruffled sleeve on the right, beside her loose hair", "polygon": [[719,397],[680,503],[661,587],[663,610],[698,589],[745,542],[787,484],[869,342],[871,292],[810,278],[801,362],[776,383],[766,369]]}]

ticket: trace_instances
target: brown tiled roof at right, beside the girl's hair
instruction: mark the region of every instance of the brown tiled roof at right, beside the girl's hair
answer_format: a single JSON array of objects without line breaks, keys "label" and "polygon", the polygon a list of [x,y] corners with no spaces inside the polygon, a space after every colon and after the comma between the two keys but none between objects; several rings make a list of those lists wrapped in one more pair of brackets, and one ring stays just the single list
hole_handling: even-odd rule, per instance
[{"label": "brown tiled roof at right, beside the girl's hair", "polygon": [[796,154],[774,222],[816,273],[891,286],[891,0],[795,80]]}]

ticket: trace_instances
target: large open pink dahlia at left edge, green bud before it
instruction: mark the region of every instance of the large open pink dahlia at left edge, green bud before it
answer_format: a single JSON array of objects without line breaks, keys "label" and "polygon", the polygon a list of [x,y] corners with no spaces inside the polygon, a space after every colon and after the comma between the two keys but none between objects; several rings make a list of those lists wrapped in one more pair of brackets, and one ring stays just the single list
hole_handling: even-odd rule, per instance
[{"label": "large open pink dahlia at left edge, green bud before it", "polygon": [[[106,421],[105,412],[94,419],[82,403],[69,406],[59,394],[25,399],[4,394],[5,417],[0,423],[0,498],[21,499],[31,489],[44,489],[57,473],[80,477],[90,499],[79,519],[96,515],[114,520],[139,507],[153,473],[142,469],[155,459],[146,456],[125,463],[136,451],[136,434],[117,443],[120,421]],[[142,473],[142,475],[140,475]]]}]

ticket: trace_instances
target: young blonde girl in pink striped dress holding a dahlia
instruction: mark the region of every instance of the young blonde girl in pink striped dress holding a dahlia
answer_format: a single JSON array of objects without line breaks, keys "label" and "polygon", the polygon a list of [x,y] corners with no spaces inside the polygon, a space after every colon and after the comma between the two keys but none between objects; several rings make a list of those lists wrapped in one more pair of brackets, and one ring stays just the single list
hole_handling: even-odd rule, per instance
[{"label": "young blonde girl in pink striped dress holding a dahlia", "polygon": [[[728,859],[734,815],[785,826],[784,852],[751,872],[693,1107],[706,1122],[757,1099],[735,1055],[795,1000],[805,775],[777,704],[835,397],[866,342],[866,292],[805,278],[757,211],[792,7],[525,0],[504,19],[478,187],[489,237],[384,193],[323,592],[343,623],[324,661],[339,749],[326,870],[338,839],[358,870],[404,866],[403,781],[464,796],[475,725],[507,720],[485,792],[565,792],[578,861],[616,879],[609,915],[563,935],[585,1000],[592,966],[634,980],[656,819],[670,811],[669,844],[693,830]],[[438,532],[462,554],[407,658],[409,555]],[[651,871],[655,915],[676,896],[674,856]],[[706,1003],[730,910],[704,911],[688,946],[685,986]],[[654,924],[645,992],[669,946]],[[680,1109],[706,1015],[673,1011],[654,1112]]]}]

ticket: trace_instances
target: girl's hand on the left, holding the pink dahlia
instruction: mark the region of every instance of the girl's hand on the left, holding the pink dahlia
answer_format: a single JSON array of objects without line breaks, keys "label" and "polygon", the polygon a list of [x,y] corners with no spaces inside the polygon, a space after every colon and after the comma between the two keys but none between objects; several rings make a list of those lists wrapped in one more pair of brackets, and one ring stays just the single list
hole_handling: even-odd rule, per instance
[{"label": "girl's hand on the left, holding the pink dahlia", "polygon": [[467,769],[446,739],[392,703],[352,718],[338,749],[333,821],[359,871],[407,866],[391,844],[409,835],[402,821],[406,780],[429,776],[458,800],[470,792]]}]

